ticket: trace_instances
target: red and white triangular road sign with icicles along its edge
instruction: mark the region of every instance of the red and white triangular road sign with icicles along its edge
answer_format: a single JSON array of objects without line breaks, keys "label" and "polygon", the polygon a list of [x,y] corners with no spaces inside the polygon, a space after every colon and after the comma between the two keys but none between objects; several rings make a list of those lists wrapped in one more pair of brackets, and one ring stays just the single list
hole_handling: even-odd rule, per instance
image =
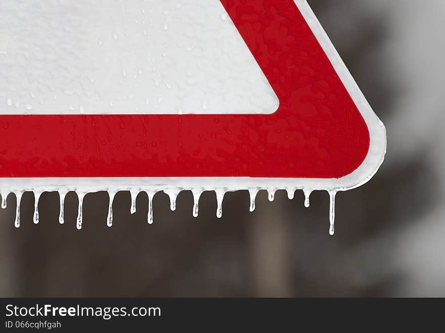
[{"label": "red and white triangular road sign with icicles along its edge", "polygon": [[252,209],[259,189],[324,189],[333,232],[335,193],[374,175],[386,136],[307,3],[106,4],[1,5],[3,193],[76,190],[80,228],[87,192],[110,192],[111,225],[119,190],[174,208],[190,189],[196,215],[214,189],[220,215],[227,191]]}]

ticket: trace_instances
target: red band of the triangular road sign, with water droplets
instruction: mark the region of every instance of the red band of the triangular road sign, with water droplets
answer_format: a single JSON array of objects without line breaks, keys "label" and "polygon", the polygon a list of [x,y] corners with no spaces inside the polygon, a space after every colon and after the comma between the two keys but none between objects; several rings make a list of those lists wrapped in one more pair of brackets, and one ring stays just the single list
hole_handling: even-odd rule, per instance
[{"label": "red band of the triangular road sign, with water droplets", "polygon": [[370,148],[367,123],[296,3],[221,3],[277,94],[274,114],[4,115],[0,177],[341,178],[356,170]]}]

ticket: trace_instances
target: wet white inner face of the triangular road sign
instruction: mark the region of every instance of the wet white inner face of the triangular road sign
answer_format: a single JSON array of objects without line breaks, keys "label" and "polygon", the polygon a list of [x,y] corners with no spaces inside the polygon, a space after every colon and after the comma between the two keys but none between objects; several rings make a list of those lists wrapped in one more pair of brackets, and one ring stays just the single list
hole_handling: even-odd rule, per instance
[{"label": "wet white inner face of the triangular road sign", "polygon": [[270,114],[219,0],[0,1],[0,114]]}]

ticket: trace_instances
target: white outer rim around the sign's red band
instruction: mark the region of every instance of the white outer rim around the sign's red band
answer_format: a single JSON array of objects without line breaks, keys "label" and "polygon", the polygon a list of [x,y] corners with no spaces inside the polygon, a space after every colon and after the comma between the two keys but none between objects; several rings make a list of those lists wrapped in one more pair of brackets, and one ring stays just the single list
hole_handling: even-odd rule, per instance
[{"label": "white outer rim around the sign's red band", "polygon": [[[183,190],[232,192],[242,189],[268,191],[286,189],[289,193],[296,189],[308,192],[347,191],[363,185],[377,172],[386,153],[386,131],[355,83],[346,65],[335,50],[314,12],[306,0],[294,0],[310,29],[313,31],[335,71],[346,87],[353,102],[362,114],[370,133],[370,148],[363,163],[352,173],[341,178],[254,178],[254,177],[43,177],[43,178],[0,178],[0,191],[3,194],[25,191],[38,193],[59,191],[67,193],[91,193],[98,191],[146,191],[177,194]],[[293,196],[293,195],[292,195]]]}]

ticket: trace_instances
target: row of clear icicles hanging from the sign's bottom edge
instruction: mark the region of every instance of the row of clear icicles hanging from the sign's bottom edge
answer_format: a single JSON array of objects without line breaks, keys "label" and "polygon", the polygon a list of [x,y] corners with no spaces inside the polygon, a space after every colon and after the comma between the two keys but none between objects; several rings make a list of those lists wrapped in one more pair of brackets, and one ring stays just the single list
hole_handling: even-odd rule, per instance
[{"label": "row of clear icicles hanging from the sign's bottom edge", "polygon": [[[255,198],[259,190],[249,190],[250,195],[250,207],[249,210],[253,212],[255,210]],[[136,213],[136,197],[138,194],[142,191],[129,191],[131,195],[131,207],[130,207],[130,213],[134,214]],[[216,217],[221,218],[222,217],[222,200],[224,199],[224,195],[226,192],[222,191],[215,191],[216,192],[216,202],[217,202],[217,208],[216,208]],[[292,200],[294,198],[294,192],[295,191],[287,191],[288,198]],[[304,192],[304,206],[307,208],[309,207],[309,197],[311,194],[311,190],[303,189]],[[112,226],[113,225],[113,200],[114,196],[117,192],[110,192],[108,191],[110,200],[108,204],[108,217],[107,217],[107,225]],[[201,197],[202,192],[196,192],[192,191],[193,194],[193,217],[198,217],[198,203],[199,198]],[[329,233],[331,235],[334,234],[334,220],[335,220],[335,195],[336,191],[330,190],[328,191],[329,198],[330,198],[330,205],[329,205],[329,222],[330,222],[330,228]],[[6,208],[6,198],[9,193],[2,193],[2,208]],[[17,198],[17,204],[16,204],[16,219],[15,219],[15,226],[18,228],[20,226],[20,201],[22,198],[23,192],[16,193]],[[65,196],[67,192],[60,192],[59,191],[59,197],[60,197],[60,214],[59,214],[59,223],[64,223],[64,202],[65,202]],[[86,192],[79,192],[77,193],[79,204],[78,204],[78,212],[77,212],[77,222],[76,227],[77,229],[82,228],[82,210],[83,210],[83,198],[86,195]],[[147,192],[148,195],[148,216],[147,220],[149,224],[153,223],[153,196],[156,194],[156,192]],[[174,211],[176,209],[176,197],[179,193],[172,193],[168,192],[166,193],[170,198],[170,209]],[[275,199],[275,191],[268,191],[269,194],[269,201],[274,201]],[[35,224],[38,223],[38,201],[40,198],[41,192],[34,191],[34,216],[33,216],[33,222]]]}]

